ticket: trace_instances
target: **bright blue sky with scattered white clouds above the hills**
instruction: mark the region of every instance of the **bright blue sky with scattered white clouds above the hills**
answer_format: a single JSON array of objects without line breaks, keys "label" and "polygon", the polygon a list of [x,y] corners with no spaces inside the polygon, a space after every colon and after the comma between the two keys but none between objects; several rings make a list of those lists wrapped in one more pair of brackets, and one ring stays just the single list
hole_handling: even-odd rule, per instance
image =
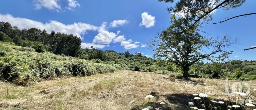
[{"label": "bright blue sky with scattered white clouds above the hills", "polygon": [[[255,12],[256,1],[248,0],[241,7],[217,10],[211,23],[225,17]],[[157,29],[170,25],[166,7],[171,3],[157,0],[4,0],[0,4],[0,21],[10,22],[20,29],[36,27],[48,32],[74,34],[82,38],[82,47],[93,45],[101,50],[136,51],[153,55],[147,49]],[[230,51],[232,59],[256,60],[256,50],[242,49],[256,46],[256,15],[239,17],[221,24],[205,25],[205,36],[229,35],[240,39]],[[145,47],[144,47],[145,46]]]}]

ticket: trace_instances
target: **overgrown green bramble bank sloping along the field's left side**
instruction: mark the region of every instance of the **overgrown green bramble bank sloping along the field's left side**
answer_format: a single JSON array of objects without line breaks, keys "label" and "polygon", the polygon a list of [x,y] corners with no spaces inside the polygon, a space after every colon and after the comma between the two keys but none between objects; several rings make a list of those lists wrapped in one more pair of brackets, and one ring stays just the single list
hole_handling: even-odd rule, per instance
[{"label": "overgrown green bramble bank sloping along the field's left side", "polygon": [[94,63],[49,52],[38,53],[33,48],[0,42],[0,78],[17,85],[28,86],[63,76],[90,76],[121,68],[120,64]]}]

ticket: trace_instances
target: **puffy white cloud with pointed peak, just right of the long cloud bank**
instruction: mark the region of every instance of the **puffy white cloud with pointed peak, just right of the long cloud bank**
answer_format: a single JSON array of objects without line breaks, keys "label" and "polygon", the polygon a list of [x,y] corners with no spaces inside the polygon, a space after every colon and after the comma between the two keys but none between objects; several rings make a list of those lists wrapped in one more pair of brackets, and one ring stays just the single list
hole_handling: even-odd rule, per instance
[{"label": "puffy white cloud with pointed peak, just right of the long cloud bank", "polygon": [[93,39],[93,43],[110,44],[117,36],[117,34],[106,30],[106,22],[103,22],[101,27],[99,27],[98,32],[98,35]]}]

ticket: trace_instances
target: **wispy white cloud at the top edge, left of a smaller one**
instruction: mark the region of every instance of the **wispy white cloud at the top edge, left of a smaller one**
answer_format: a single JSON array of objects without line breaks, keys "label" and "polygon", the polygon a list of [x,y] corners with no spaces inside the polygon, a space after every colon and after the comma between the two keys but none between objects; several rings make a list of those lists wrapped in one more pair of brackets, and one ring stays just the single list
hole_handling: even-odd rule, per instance
[{"label": "wispy white cloud at the top edge, left of a smaller one", "polygon": [[61,6],[58,3],[60,0],[34,0],[33,2],[36,10],[39,10],[42,7],[57,11],[61,9]]}]

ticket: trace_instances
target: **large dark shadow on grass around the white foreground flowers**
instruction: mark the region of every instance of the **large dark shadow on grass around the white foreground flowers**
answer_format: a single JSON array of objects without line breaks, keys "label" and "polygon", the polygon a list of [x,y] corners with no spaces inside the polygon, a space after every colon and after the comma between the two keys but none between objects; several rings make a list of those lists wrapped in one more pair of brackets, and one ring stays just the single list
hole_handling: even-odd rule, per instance
[{"label": "large dark shadow on grass around the white foreground flowers", "polygon": [[[165,97],[167,98],[167,100],[171,103],[171,104],[174,104],[174,105],[169,105],[169,103],[165,103],[165,104],[159,104],[159,103],[156,103],[155,102],[147,102],[147,103],[143,103],[143,104],[140,104],[140,105],[137,105],[135,106],[138,110],[141,110],[143,108],[146,108],[148,106],[151,106],[153,107],[155,110],[156,107],[162,107],[160,110],[191,110],[191,106],[189,106],[189,102],[194,102],[194,104],[196,105],[196,107],[199,109],[204,109],[202,107],[202,104],[205,104],[206,106],[206,110],[209,109],[209,105],[214,105],[215,107],[217,107],[218,110],[227,110],[227,105],[232,105],[232,103],[230,102],[226,102],[225,100],[221,100],[221,99],[213,99],[217,102],[219,101],[222,101],[224,102],[224,104],[219,104],[219,103],[213,103],[210,101],[210,99],[208,98],[201,98],[200,100],[195,100],[194,97],[196,96],[193,96],[192,94],[191,95],[187,95],[187,94],[167,94],[167,95],[158,95],[154,92],[151,92],[149,95],[153,95],[155,97],[155,100],[158,101],[160,97]],[[193,101],[192,101],[193,100]],[[145,100],[146,101],[146,100]],[[201,102],[203,101],[203,102]],[[205,102],[205,103],[204,103]],[[210,103],[211,102],[211,103]],[[226,104],[227,103],[227,104]],[[198,107],[201,106],[201,107]],[[135,107],[133,107],[131,110],[137,110]],[[195,106],[192,106],[192,107],[195,107]],[[230,108],[229,108],[230,109]],[[232,108],[231,110],[234,110],[235,108]],[[214,110],[214,108],[213,108]],[[241,107],[240,108],[237,108],[236,110],[242,110]]]}]

